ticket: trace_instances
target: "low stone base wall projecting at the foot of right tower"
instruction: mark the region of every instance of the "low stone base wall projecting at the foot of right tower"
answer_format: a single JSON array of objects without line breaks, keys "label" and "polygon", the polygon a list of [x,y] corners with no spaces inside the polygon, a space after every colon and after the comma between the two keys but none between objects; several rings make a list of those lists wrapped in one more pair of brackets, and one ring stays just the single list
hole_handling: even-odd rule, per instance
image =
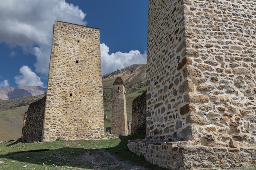
[{"label": "low stone base wall projecting at the foot of right tower", "polygon": [[190,145],[189,141],[137,139],[128,141],[128,148],[157,166],[175,170],[224,169],[256,163],[255,147],[207,147]]}]

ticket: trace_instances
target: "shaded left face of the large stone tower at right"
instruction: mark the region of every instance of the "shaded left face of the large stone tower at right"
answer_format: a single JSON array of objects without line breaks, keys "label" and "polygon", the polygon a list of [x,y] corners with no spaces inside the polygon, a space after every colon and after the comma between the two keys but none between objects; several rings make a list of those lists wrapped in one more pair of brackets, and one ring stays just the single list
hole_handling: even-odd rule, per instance
[{"label": "shaded left face of the large stone tower at right", "polygon": [[[147,47],[146,135],[148,139],[183,139],[186,84],[179,63],[184,58],[185,25],[182,0],[149,1]],[[177,69],[179,68],[179,69]],[[182,126],[184,128],[184,126]]]}]

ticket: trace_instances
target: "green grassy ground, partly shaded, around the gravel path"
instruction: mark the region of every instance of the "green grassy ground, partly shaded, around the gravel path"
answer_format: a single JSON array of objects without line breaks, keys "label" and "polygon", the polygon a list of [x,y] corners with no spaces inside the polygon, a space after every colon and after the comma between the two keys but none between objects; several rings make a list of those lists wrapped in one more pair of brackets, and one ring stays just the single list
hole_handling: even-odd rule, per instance
[{"label": "green grassy ground, partly shaded, around the gravel path", "polygon": [[[19,143],[17,141],[6,141],[0,144],[0,170],[18,170],[23,166],[26,169],[36,170],[92,170],[92,163],[81,161],[81,156],[86,151],[94,152],[95,149],[110,152],[120,160],[130,161],[133,165],[139,165],[151,170],[164,170],[138,157],[127,148],[129,139],[139,139],[143,136],[135,134],[122,138],[109,140],[88,140],[88,141],[53,141],[43,143]],[[8,152],[49,149],[42,152],[24,152],[8,154]],[[42,166],[42,164],[45,166]],[[51,166],[52,164],[55,167]],[[108,170],[108,168],[102,168]]]}]

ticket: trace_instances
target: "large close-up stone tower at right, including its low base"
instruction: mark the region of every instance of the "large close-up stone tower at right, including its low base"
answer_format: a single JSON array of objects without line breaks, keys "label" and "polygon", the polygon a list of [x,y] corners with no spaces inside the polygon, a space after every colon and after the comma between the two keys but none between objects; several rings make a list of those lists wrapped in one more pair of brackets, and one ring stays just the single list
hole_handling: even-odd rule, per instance
[{"label": "large close-up stone tower at right, including its low base", "polygon": [[[130,141],[130,150],[173,169],[255,163],[255,6],[252,0],[149,0],[148,141]],[[153,153],[158,147],[172,152]]]}]

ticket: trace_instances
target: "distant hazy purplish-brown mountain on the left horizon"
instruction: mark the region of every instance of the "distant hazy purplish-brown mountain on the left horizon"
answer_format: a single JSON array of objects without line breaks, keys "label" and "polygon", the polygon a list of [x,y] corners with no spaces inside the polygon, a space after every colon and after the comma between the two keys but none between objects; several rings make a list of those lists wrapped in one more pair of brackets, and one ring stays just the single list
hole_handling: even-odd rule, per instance
[{"label": "distant hazy purplish-brown mountain on the left horizon", "polygon": [[40,86],[24,86],[24,87],[6,87],[0,88],[0,99],[16,99],[25,95],[41,95],[46,92],[47,88]]}]

